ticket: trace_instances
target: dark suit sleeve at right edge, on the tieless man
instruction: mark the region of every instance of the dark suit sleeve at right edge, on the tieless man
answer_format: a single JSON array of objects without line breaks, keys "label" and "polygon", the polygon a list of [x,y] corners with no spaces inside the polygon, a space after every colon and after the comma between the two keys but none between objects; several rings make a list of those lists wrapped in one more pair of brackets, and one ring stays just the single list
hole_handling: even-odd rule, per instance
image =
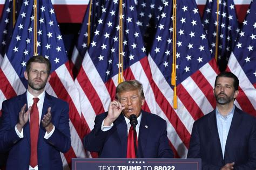
[{"label": "dark suit sleeve at right edge, on the tieless man", "polygon": [[256,169],[256,118],[253,118],[253,125],[248,140],[249,159],[245,164],[234,165],[234,169]]}]

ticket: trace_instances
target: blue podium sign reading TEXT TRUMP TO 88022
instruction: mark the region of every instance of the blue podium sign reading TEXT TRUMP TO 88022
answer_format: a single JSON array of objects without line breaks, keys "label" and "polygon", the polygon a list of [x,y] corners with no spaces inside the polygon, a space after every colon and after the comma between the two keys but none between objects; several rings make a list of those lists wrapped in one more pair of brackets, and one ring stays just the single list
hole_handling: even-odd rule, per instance
[{"label": "blue podium sign reading TEXT TRUMP TO 88022", "polygon": [[200,170],[201,159],[72,158],[73,170]]}]

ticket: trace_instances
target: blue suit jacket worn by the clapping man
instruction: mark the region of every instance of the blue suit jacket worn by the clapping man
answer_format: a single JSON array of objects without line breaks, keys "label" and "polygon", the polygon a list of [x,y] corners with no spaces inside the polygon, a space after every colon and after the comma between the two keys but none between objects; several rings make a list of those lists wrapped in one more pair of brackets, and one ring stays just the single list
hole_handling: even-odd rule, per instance
[{"label": "blue suit jacket worn by the clapping man", "polygon": [[[19,138],[15,126],[23,105],[27,103],[26,93],[3,102],[0,122],[0,152],[9,151],[6,169],[26,169],[30,164],[30,127],[23,127],[23,138]],[[51,122],[55,131],[48,139],[44,138],[45,128],[40,123],[37,157],[38,169],[63,169],[59,152],[67,152],[71,146],[69,130],[69,105],[45,93],[42,116],[51,107]]]}]

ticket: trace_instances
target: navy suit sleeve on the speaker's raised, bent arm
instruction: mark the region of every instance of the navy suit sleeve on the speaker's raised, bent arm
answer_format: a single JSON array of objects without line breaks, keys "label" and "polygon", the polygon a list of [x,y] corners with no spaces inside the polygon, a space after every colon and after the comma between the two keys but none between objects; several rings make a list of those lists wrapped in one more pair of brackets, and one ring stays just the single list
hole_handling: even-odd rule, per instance
[{"label": "navy suit sleeve on the speaker's raised, bent arm", "polygon": [[103,119],[104,117],[102,117],[102,115],[96,116],[93,130],[84,137],[83,144],[86,150],[100,152],[103,148],[107,134],[115,128],[115,126],[113,126],[108,131],[102,131],[101,126]]}]

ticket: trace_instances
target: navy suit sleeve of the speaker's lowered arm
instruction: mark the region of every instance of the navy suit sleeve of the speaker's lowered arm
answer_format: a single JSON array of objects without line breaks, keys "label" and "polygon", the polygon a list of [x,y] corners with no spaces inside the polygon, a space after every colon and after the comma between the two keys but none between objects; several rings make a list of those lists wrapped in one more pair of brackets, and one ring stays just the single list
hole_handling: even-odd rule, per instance
[{"label": "navy suit sleeve of the speaker's lowered arm", "polygon": [[169,139],[167,138],[166,121],[164,121],[163,124],[164,128],[161,131],[158,158],[173,158],[174,154],[169,146]]}]

